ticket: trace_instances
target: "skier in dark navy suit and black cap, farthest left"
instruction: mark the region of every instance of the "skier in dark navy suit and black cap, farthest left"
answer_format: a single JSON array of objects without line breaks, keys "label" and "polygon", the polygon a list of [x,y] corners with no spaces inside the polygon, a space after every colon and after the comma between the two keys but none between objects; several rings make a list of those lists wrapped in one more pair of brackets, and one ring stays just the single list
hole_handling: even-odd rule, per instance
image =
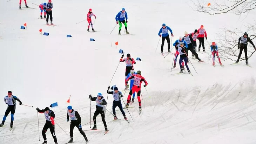
[{"label": "skier in dark navy suit and black cap, farthest left", "polygon": [[20,101],[20,99],[14,95],[12,95],[12,91],[8,91],[7,93],[8,95],[5,96],[5,103],[8,104],[7,109],[5,111],[5,115],[3,118],[2,123],[0,123],[0,127],[2,127],[5,124],[5,120],[6,117],[9,115],[9,113],[11,112],[11,124],[10,127],[13,128],[13,120],[14,120],[14,113],[15,113],[15,109],[16,109],[16,100],[19,101],[20,105],[22,104],[22,102]]}]

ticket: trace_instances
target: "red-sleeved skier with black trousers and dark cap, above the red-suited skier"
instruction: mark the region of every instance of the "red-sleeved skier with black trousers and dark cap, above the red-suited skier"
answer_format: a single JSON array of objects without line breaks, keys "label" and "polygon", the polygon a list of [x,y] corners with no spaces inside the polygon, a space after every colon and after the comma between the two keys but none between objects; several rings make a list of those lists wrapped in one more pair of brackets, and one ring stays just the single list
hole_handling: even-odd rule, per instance
[{"label": "red-sleeved skier with black trousers and dark cap, above the red-suited skier", "polygon": [[[128,89],[128,85],[126,84],[127,75],[130,73],[130,70],[133,69],[133,64],[136,64],[135,60],[133,58],[131,58],[130,54],[127,54],[126,56],[127,56],[127,58],[124,58],[123,60],[120,59],[120,62],[126,63],[125,80],[124,80],[126,86],[125,86],[124,90]],[[122,57],[123,57],[123,55],[122,55]]]}]

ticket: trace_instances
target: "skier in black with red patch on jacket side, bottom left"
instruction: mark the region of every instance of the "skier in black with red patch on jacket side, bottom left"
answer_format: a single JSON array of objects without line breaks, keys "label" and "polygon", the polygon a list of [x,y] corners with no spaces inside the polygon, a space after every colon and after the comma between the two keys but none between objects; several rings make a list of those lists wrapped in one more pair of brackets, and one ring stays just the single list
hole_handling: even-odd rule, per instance
[{"label": "skier in black with red patch on jacket side, bottom left", "polygon": [[36,108],[36,110],[39,113],[44,113],[45,119],[46,119],[45,126],[43,126],[43,130],[42,130],[42,135],[43,135],[43,140],[44,140],[44,142],[42,144],[47,144],[45,133],[48,129],[50,129],[50,133],[52,133],[55,144],[58,144],[57,138],[55,136],[55,126],[54,126],[55,114],[54,114],[54,112],[52,110],[50,110],[48,107],[46,107],[45,109],[42,109],[42,110],[40,110],[39,108]]}]

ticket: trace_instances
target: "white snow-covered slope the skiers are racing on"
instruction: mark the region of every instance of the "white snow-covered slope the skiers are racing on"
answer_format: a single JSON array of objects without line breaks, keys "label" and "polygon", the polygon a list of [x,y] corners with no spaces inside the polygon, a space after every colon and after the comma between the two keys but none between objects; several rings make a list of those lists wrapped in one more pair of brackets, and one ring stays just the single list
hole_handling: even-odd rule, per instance
[{"label": "white snow-covered slope the skiers are racing on", "polygon": [[[38,8],[27,0],[30,7]],[[43,1],[42,1],[43,2]],[[58,102],[52,108],[56,114],[55,121],[69,135],[69,123],[66,122],[66,110],[72,105],[82,118],[82,125],[90,122],[89,94],[96,96],[101,92],[107,98],[107,87],[117,85],[124,88],[125,64],[120,63],[119,49],[124,55],[130,53],[136,61],[135,70],[141,70],[148,86],[142,88],[142,113],[139,115],[137,99],[135,108],[125,110],[130,123],[122,119],[114,121],[107,112],[106,122],[109,133],[103,131],[86,131],[89,143],[168,143],[168,144],[254,144],[256,139],[256,99],[255,68],[256,58],[252,56],[249,63],[252,68],[241,64],[231,65],[222,61],[224,67],[211,66],[209,44],[215,41],[216,32],[222,27],[241,27],[250,23],[255,15],[251,12],[248,19],[240,20],[233,14],[214,15],[197,13],[191,10],[188,0],[154,1],[154,0],[99,0],[99,1],[55,1],[53,0],[53,23],[58,27],[46,26],[46,21],[38,19],[39,9],[19,10],[17,1],[2,1],[0,5],[0,96],[4,98],[8,90],[20,98],[23,104],[33,105],[29,108],[17,105],[14,115],[14,129],[9,131],[10,115],[5,126],[0,128],[0,143],[42,143],[42,127],[45,118],[35,108],[43,109]],[[22,7],[24,7],[22,1]],[[126,8],[128,13],[128,31],[133,35],[118,35],[115,27],[115,15]],[[92,8],[97,16],[94,29],[86,31],[86,14]],[[225,19],[225,21],[223,21]],[[93,18],[94,20],[94,18]],[[27,23],[27,29],[20,26]],[[199,53],[206,63],[192,60],[194,68],[189,68],[194,76],[188,74],[171,75],[179,69],[171,70],[173,54],[165,58],[160,54],[160,46],[155,52],[159,36],[157,33],[166,23],[173,30],[172,43],[183,36],[184,31],[193,32],[201,25],[207,31],[207,53]],[[236,23],[236,25],[234,25]],[[39,29],[49,36],[39,34]],[[245,28],[244,28],[245,29]],[[66,37],[66,35],[72,37]],[[242,34],[241,34],[242,35]],[[95,39],[94,42],[89,41]],[[238,39],[238,38],[237,38]],[[114,43],[118,41],[119,45]],[[199,43],[199,42],[197,42]],[[217,42],[216,42],[217,43]],[[256,41],[254,41],[256,43]],[[167,51],[167,42],[164,52]],[[172,51],[174,52],[174,51]],[[165,53],[167,54],[167,53]],[[189,52],[191,55],[191,52]],[[244,54],[243,54],[244,55]],[[216,59],[217,60],[217,59]],[[115,72],[112,82],[110,80]],[[66,103],[71,95],[70,104]],[[128,92],[124,96],[126,102]],[[1,100],[1,99],[0,99]],[[2,99],[3,100],[3,99]],[[113,97],[108,96],[107,109],[112,112]],[[0,101],[0,118],[4,116],[7,105]],[[92,116],[95,102],[91,103]],[[116,109],[117,110],[117,109]],[[1,119],[0,119],[1,120]],[[98,129],[103,129],[101,117],[97,117]],[[59,144],[66,143],[69,136],[55,125],[55,134]],[[89,124],[83,130],[90,129]],[[54,143],[50,132],[47,141]],[[79,131],[74,129],[74,141],[85,143]]]}]

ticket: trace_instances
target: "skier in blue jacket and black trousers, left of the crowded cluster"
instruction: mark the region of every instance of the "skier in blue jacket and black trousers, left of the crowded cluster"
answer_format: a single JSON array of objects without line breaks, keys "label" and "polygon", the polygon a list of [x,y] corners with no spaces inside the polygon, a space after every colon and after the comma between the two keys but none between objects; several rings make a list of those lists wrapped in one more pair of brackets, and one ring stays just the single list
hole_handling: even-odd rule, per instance
[{"label": "skier in blue jacket and black trousers, left of the crowded cluster", "polygon": [[168,52],[170,52],[170,37],[169,37],[169,34],[168,34],[168,30],[170,30],[171,36],[173,37],[173,31],[171,30],[170,27],[166,26],[165,23],[163,23],[163,25],[160,28],[159,33],[158,33],[158,35],[160,37],[162,36],[161,54],[163,54],[163,45],[164,45],[164,40],[165,39],[167,40],[167,44],[168,44]]}]

